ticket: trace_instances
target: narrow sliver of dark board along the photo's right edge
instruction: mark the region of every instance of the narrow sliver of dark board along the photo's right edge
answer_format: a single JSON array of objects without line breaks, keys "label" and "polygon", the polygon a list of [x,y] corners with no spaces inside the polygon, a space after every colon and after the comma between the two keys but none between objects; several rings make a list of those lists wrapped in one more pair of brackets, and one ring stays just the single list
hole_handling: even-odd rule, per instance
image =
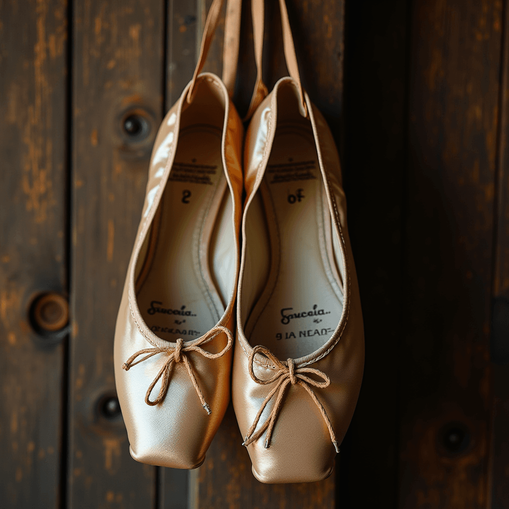
[{"label": "narrow sliver of dark board along the photo's right edge", "polygon": [[499,93],[498,178],[496,185],[495,267],[491,360],[491,509],[509,507],[509,5],[504,5]]}]

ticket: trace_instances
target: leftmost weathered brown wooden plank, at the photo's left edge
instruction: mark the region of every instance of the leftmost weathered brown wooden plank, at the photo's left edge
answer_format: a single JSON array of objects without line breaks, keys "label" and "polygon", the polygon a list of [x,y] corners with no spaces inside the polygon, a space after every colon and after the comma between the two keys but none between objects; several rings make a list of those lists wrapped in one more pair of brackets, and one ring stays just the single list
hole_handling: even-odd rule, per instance
[{"label": "leftmost weathered brown wooden plank, at the photo's left edge", "polygon": [[56,507],[64,346],[34,333],[33,298],[67,293],[67,6],[0,4],[0,505]]}]

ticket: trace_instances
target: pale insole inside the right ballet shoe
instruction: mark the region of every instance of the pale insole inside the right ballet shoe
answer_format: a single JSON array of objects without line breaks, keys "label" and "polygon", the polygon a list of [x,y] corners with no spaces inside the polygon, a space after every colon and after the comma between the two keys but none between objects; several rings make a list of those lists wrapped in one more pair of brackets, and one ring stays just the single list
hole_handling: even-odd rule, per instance
[{"label": "pale insole inside the right ballet shoe", "polygon": [[264,345],[281,360],[299,358],[327,342],[343,309],[330,212],[310,128],[277,126],[260,192],[271,267],[246,333],[251,345]]}]

